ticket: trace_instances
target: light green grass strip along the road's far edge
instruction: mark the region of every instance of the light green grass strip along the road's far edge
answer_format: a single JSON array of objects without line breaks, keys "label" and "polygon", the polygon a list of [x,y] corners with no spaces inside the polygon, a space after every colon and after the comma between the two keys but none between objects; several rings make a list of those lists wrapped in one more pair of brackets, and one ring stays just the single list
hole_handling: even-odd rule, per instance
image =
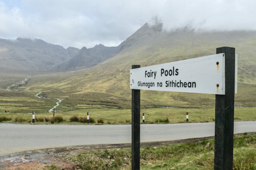
[{"label": "light green grass strip along the road's far edge", "polygon": [[[63,117],[61,121],[55,121],[55,123],[87,123],[87,109],[79,109],[68,112],[58,112],[57,114]],[[183,109],[183,108],[148,108],[141,109],[141,123],[142,112],[145,113],[146,123],[190,123],[190,122],[214,122],[215,121],[215,109]],[[186,112],[189,112],[189,121],[186,121]],[[90,118],[101,118],[105,124],[127,124],[131,123],[131,110],[130,109],[90,109]],[[6,116],[6,115],[5,115]],[[21,116],[26,123],[27,120],[32,118],[31,114],[27,113],[10,113],[8,114],[12,120],[8,122],[15,122],[15,116]],[[50,119],[52,113],[36,113],[35,117],[47,117]],[[256,107],[248,108],[235,108],[235,121],[248,121],[256,119]],[[77,121],[78,120],[78,121]],[[90,123],[96,123],[96,121],[90,120]],[[47,122],[46,120],[44,120]],[[169,121],[169,122],[168,122]],[[16,121],[17,122],[17,121]],[[50,121],[48,121],[50,122]],[[38,122],[40,123],[40,122]],[[41,122],[43,123],[43,122]]]}]

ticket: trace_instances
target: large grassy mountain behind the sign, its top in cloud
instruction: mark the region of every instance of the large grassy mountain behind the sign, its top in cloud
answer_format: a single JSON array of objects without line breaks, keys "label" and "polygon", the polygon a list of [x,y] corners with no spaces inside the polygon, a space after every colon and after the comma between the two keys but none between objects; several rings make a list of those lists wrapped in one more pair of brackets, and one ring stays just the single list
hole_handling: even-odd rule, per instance
[{"label": "large grassy mountain behind the sign, its top in cloud", "polygon": [[[256,106],[256,31],[199,32],[180,28],[166,31],[162,24],[143,25],[122,43],[122,48],[91,68],[35,76],[25,91],[49,92],[72,103],[130,108],[131,65],[141,67],[212,55],[216,48],[235,47],[238,54],[238,93],[235,105]],[[86,49],[83,49],[87,51]],[[80,50],[81,51],[81,50]],[[75,101],[75,102],[74,102]],[[72,105],[70,103],[70,105]],[[141,105],[214,107],[215,96],[197,93],[141,91]]]}]

